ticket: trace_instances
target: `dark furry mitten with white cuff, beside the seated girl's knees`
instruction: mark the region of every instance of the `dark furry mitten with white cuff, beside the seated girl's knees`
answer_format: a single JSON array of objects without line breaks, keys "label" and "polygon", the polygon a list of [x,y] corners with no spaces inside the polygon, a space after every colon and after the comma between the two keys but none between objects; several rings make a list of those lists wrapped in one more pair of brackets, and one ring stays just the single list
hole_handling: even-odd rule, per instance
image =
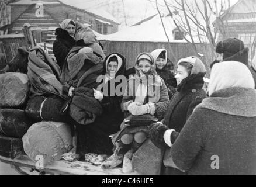
[{"label": "dark furry mitten with white cuff, beside the seated girl's knees", "polygon": [[168,145],[164,141],[164,133],[168,129],[162,122],[153,123],[149,126],[148,137],[158,148],[167,148]]}]

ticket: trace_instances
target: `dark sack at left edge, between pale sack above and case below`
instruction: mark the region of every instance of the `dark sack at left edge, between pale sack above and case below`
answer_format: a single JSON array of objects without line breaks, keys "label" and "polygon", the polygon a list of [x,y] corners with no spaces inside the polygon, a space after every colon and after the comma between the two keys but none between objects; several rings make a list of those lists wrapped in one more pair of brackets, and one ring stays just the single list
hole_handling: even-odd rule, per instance
[{"label": "dark sack at left edge, between pale sack above and case below", "polygon": [[0,109],[0,132],[6,136],[22,138],[32,124],[24,110]]}]

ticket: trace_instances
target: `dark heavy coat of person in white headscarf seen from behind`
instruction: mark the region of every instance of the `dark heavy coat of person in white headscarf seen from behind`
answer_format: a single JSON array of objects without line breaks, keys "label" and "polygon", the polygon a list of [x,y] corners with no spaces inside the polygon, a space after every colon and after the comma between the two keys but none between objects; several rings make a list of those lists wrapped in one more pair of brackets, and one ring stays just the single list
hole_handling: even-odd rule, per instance
[{"label": "dark heavy coat of person in white headscarf seen from behind", "polygon": [[171,147],[174,164],[189,175],[255,175],[255,98],[235,87],[203,99]]}]

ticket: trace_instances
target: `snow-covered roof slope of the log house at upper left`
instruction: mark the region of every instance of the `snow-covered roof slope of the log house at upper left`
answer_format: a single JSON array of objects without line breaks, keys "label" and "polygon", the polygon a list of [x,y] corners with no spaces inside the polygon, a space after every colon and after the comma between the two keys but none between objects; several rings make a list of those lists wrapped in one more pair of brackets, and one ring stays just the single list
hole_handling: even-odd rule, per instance
[{"label": "snow-covered roof slope of the log house at upper left", "polygon": [[78,9],[84,9],[87,12],[91,12],[95,15],[101,16],[102,18],[111,20],[112,22],[119,23],[119,21],[114,18],[114,16],[110,15],[110,13],[106,12],[105,9],[99,8],[95,5],[95,2],[90,1],[81,1],[81,0],[59,0],[63,4],[74,6]]}]

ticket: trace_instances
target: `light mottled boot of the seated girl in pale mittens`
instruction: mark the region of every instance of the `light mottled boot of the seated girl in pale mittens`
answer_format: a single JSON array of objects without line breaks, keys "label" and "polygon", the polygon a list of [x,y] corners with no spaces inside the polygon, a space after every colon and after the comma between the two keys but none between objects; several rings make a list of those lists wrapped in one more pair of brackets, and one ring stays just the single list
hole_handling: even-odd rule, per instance
[{"label": "light mottled boot of the seated girl in pale mittens", "polygon": [[121,141],[117,144],[114,153],[101,164],[102,169],[113,169],[123,162],[123,155],[130,149],[130,145],[123,144]]}]

